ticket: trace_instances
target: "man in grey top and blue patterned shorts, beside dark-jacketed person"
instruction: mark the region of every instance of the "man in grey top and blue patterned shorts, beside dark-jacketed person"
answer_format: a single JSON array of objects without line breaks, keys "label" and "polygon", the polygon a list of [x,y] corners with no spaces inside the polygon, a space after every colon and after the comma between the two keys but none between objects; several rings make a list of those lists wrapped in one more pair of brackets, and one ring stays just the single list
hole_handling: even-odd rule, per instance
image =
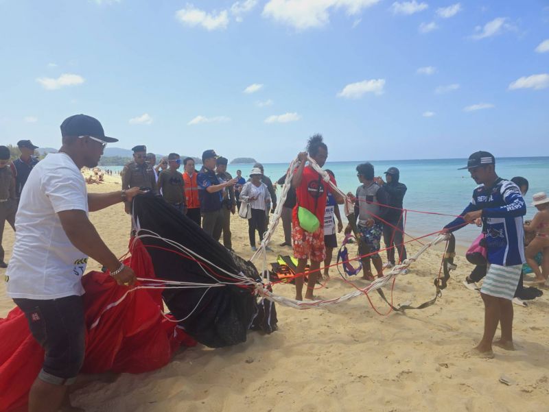
[{"label": "man in grey top and blue patterned shorts, beside dark-jacketed person", "polygon": [[[361,242],[358,244],[362,260],[362,279],[373,280],[373,274],[370,261],[375,267],[377,277],[383,276],[383,261],[379,256],[379,248],[382,240],[382,223],[385,220],[388,208],[383,205],[388,204],[387,192],[382,186],[374,181],[374,168],[369,162],[362,163],[356,167],[356,175],[361,186],[356,189],[356,196],[349,193],[349,197],[355,202],[355,216],[358,217],[357,227]],[[346,233],[351,232],[351,226],[348,225]],[[365,256],[367,255],[367,256]]]}]

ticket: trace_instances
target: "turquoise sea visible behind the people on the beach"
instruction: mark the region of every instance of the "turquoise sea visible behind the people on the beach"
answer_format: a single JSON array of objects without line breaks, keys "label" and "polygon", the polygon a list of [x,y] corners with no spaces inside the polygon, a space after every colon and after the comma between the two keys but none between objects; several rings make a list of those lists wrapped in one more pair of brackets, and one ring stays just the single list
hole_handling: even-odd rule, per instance
[{"label": "turquoise sea visible behind the people on the beach", "polygon": [[[338,186],[345,193],[348,191],[354,193],[359,185],[355,167],[361,162],[326,162],[324,168],[334,172]],[[549,156],[498,158],[496,162],[496,171],[502,178],[523,176],[528,179],[530,189],[526,195],[528,206],[526,217],[533,217],[535,208],[530,206],[532,195],[540,191],[549,192]],[[404,197],[404,208],[411,210],[459,215],[469,203],[476,186],[467,170],[457,170],[458,167],[467,165],[467,159],[377,160],[371,163],[375,167],[375,174],[382,177],[388,167],[399,168],[400,181],[408,186],[408,192]],[[247,177],[251,168],[252,165],[229,165],[228,171],[235,176],[237,169],[241,169],[242,175]],[[265,174],[275,181],[285,174],[288,164],[264,163],[264,168]],[[117,171],[121,167],[110,167],[110,169]],[[452,217],[409,212],[406,232],[421,236],[441,229],[452,219]],[[456,239],[458,243],[465,245],[474,240],[479,231],[476,226],[467,226],[456,232]]]}]

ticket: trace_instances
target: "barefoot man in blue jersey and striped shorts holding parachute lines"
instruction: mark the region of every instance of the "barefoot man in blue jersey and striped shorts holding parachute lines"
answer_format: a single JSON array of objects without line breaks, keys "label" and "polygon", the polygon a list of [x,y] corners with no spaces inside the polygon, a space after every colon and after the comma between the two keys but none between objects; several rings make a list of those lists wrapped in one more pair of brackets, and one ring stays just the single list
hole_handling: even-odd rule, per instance
[{"label": "barefoot man in blue jersey and striped shorts holding parachute lines", "polygon": [[526,204],[519,187],[495,173],[495,158],[488,152],[471,154],[467,166],[461,169],[469,170],[478,186],[461,217],[448,223],[443,232],[453,232],[463,228],[465,223],[482,219],[483,243],[487,247],[489,263],[480,289],[484,301],[484,335],[472,352],[492,358],[492,341],[498,322],[502,336],[493,344],[514,350],[512,300],[525,261],[522,217],[526,215]]}]

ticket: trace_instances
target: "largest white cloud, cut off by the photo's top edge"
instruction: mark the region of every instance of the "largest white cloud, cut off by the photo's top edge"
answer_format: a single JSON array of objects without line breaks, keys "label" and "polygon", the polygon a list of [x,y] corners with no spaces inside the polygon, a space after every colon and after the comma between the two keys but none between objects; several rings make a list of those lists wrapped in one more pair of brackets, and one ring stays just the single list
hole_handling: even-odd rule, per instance
[{"label": "largest white cloud, cut off by the photo's top edge", "polygon": [[380,0],[269,0],[263,16],[297,30],[321,27],[329,23],[331,9],[343,8],[354,16]]}]

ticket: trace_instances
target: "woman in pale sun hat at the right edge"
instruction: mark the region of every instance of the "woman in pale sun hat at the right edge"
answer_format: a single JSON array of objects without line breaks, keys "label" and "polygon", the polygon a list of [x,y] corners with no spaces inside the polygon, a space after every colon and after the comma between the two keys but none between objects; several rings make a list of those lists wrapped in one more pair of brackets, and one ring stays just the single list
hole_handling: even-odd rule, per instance
[{"label": "woman in pale sun hat at the right edge", "polygon": [[[532,206],[537,208],[532,221],[524,225],[527,232],[535,232],[536,237],[526,247],[526,261],[536,275],[533,284],[545,284],[549,276],[549,197],[540,192],[533,195]],[[541,270],[536,261],[536,255],[541,252]]]}]

